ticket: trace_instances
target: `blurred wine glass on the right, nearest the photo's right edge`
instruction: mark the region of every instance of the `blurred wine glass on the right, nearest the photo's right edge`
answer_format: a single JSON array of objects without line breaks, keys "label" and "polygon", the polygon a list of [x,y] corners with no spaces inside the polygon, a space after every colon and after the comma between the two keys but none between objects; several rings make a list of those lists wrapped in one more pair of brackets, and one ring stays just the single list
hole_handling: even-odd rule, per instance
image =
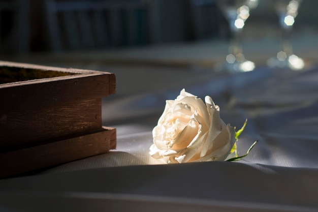
[{"label": "blurred wine glass on the right, nearest the photo's right edge", "polygon": [[291,32],[298,15],[298,8],[302,0],[276,0],[275,10],[279,18],[281,34],[281,51],[277,56],[269,58],[267,65],[271,68],[290,68],[301,70],[304,68],[304,60],[293,54],[290,43]]}]

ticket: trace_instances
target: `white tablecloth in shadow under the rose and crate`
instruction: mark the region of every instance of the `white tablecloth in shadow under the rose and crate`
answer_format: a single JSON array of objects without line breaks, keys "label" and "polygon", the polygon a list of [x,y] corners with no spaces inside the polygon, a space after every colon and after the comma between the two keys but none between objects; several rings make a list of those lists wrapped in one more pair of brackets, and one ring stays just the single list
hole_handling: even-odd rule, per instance
[{"label": "white tablecloth in shadow under the rose and crate", "polygon": [[[117,79],[118,80],[118,79]],[[248,123],[240,162],[162,165],[148,155],[166,99],[212,97],[232,126]],[[105,99],[117,149],[33,176],[0,180],[3,211],[318,211],[318,69],[257,69]]]}]

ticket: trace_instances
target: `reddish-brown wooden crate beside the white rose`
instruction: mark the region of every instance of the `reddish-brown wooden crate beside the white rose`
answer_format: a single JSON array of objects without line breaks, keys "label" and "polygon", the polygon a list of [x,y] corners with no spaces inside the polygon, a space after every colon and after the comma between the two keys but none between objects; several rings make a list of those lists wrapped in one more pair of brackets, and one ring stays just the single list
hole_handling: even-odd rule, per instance
[{"label": "reddish-brown wooden crate beside the white rose", "polygon": [[116,129],[102,126],[115,87],[108,72],[0,61],[0,178],[115,148]]}]

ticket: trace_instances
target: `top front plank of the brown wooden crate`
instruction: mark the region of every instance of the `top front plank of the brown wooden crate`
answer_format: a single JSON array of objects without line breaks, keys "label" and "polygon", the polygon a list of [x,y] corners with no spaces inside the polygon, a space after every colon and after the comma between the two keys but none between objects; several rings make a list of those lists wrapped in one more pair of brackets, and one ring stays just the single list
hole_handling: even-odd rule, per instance
[{"label": "top front plank of the brown wooden crate", "polygon": [[0,104],[0,112],[15,110],[19,105],[25,109],[39,110],[48,105],[97,99],[114,93],[114,74],[78,74],[8,83],[0,85],[0,98],[6,101],[6,104]]}]

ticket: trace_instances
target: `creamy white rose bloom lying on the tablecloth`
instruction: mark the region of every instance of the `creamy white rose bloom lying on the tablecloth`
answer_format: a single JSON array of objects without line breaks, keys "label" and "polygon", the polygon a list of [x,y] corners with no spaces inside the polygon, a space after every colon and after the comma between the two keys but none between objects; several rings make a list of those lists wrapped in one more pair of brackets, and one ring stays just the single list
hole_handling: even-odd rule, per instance
[{"label": "creamy white rose bloom lying on the tablecloth", "polygon": [[152,130],[149,154],[165,163],[224,161],[235,143],[235,129],[219,116],[211,97],[205,102],[181,90],[167,100],[157,126]]}]

